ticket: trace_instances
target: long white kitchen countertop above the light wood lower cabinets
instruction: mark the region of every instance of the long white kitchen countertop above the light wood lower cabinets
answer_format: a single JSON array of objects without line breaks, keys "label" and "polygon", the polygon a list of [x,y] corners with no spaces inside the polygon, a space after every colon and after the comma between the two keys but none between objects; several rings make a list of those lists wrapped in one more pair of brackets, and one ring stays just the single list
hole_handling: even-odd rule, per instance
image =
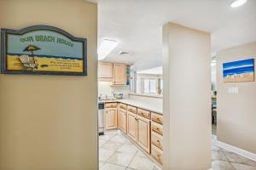
[{"label": "long white kitchen countertop above the light wood lower cabinets", "polygon": [[133,105],[138,108],[153,111],[155,113],[163,114],[162,105],[149,105],[141,100],[137,99],[116,99],[116,100],[102,100],[101,102],[110,103],[110,102],[120,102],[126,105]]}]

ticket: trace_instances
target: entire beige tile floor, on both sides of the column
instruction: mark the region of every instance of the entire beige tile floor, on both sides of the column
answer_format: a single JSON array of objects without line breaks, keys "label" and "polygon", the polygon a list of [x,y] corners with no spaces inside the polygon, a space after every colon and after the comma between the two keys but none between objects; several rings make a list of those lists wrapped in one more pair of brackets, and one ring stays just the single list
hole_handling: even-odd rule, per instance
[{"label": "entire beige tile floor, on both sides of the column", "polygon": [[[119,130],[99,137],[100,170],[160,170]],[[219,148],[212,138],[212,170],[256,170],[256,162]]]}]

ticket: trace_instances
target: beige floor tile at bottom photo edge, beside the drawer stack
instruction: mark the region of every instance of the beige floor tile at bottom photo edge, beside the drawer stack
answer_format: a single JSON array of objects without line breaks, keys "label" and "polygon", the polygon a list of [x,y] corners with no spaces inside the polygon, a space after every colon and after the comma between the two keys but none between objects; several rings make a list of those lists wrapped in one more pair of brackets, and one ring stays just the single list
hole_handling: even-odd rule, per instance
[{"label": "beige floor tile at bottom photo edge, beside the drawer stack", "polygon": [[137,170],[153,170],[154,162],[149,160],[147,157],[135,156],[128,167]]}]

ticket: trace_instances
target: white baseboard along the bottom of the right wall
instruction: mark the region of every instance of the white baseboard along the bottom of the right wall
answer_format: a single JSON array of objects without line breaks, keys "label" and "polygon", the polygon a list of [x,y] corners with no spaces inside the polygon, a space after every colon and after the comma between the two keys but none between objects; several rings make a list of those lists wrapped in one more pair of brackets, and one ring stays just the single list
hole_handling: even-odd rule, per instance
[{"label": "white baseboard along the bottom of the right wall", "polygon": [[221,142],[217,140],[216,144],[218,147],[224,148],[225,150],[230,150],[238,155],[247,157],[250,160],[256,161],[256,154],[253,154],[252,152],[249,152],[247,150],[241,150],[240,148],[237,148],[236,146],[226,144],[224,142]]}]

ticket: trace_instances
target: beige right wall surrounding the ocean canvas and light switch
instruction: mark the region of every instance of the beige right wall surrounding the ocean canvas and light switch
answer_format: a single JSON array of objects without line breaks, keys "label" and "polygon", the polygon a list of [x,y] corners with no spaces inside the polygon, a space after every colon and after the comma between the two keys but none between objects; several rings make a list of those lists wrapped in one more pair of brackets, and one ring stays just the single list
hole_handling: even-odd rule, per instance
[{"label": "beige right wall surrounding the ocean canvas and light switch", "polygon": [[[217,54],[217,138],[256,154],[256,82],[224,82],[223,79],[223,63],[241,59],[256,60],[256,42]],[[239,88],[238,94],[228,94],[229,87]]]}]

